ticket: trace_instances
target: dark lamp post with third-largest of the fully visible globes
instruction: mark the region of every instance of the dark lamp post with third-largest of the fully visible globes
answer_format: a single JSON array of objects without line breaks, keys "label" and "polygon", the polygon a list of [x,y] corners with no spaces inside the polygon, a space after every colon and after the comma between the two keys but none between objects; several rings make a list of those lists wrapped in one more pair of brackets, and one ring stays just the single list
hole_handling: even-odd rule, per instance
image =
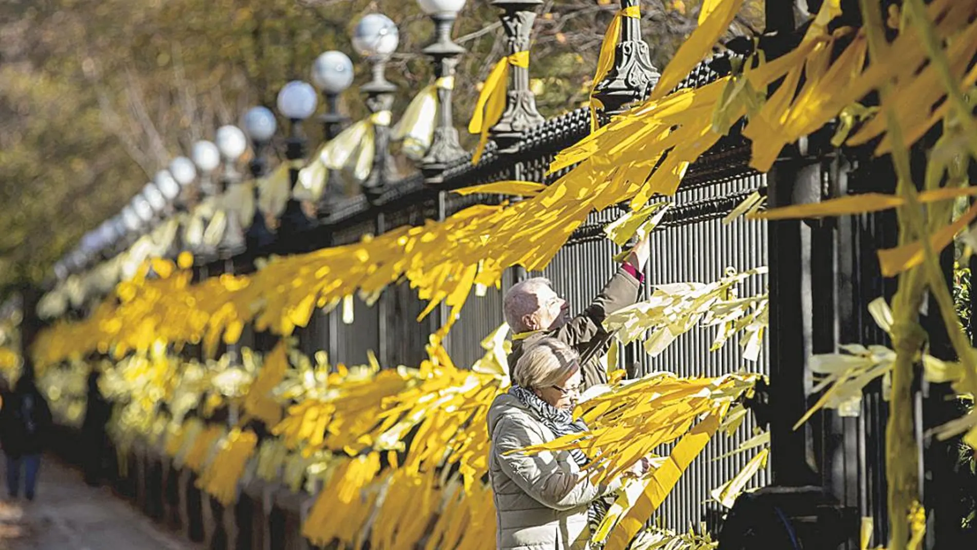
[{"label": "dark lamp post with third-largest of the fully visible globes", "polygon": [[[306,137],[302,132],[302,121],[312,116],[316,111],[318,98],[316,90],[308,82],[292,80],[278,92],[278,112],[283,114],[289,122],[289,135],[285,141],[285,158],[289,162],[289,194],[299,181],[299,169],[294,166],[297,160],[305,157]],[[297,233],[302,233],[313,227],[313,222],[302,211],[302,205],[291,196],[285,204],[285,211],[281,214],[278,227],[278,242],[288,242]],[[297,242],[292,242],[297,245]]]}]

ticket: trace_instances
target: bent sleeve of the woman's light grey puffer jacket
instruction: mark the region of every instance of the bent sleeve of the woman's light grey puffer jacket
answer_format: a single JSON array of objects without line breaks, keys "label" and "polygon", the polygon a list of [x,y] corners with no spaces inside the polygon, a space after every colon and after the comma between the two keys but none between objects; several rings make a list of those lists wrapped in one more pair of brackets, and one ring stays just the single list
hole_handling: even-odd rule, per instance
[{"label": "bent sleeve of the woman's light grey puffer jacket", "polygon": [[554,510],[571,510],[589,504],[613,487],[594,485],[587,478],[563,470],[549,451],[537,454],[514,452],[531,444],[545,443],[537,428],[525,420],[505,417],[492,434],[495,459],[506,476],[543,506]]}]

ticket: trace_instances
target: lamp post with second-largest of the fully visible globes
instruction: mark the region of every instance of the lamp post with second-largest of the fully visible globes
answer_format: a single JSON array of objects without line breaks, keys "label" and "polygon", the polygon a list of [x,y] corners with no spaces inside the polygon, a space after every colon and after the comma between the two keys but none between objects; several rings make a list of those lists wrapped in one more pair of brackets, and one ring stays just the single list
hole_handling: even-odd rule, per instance
[{"label": "lamp post with second-largest of the fully visible globes", "polygon": [[[334,140],[349,120],[345,115],[340,114],[338,104],[339,95],[353,84],[353,62],[342,52],[335,50],[323,52],[312,65],[312,82],[322,92],[322,98],[325,100],[325,113],[319,118],[322,122],[322,134],[326,141]],[[332,198],[341,194],[341,190],[338,189],[340,186],[342,180],[339,174],[330,169],[325,187],[319,195],[319,204],[316,205],[319,219],[328,216]]]}]

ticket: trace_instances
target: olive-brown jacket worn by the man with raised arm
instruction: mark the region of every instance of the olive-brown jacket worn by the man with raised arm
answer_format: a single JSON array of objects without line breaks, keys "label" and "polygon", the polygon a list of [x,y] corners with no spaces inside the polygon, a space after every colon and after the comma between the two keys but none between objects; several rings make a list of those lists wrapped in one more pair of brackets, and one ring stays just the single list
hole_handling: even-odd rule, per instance
[{"label": "olive-brown jacket worn by the man with raised arm", "polygon": [[512,352],[509,353],[509,372],[516,367],[519,358],[523,357],[523,350],[548,336],[573,346],[580,354],[582,389],[607,383],[608,372],[601,364],[601,358],[611,348],[612,333],[604,328],[604,318],[621,308],[633,305],[638,300],[640,287],[638,279],[623,268],[618,268],[594,301],[567,324],[553,330],[523,333],[522,338],[517,335],[512,342]]}]

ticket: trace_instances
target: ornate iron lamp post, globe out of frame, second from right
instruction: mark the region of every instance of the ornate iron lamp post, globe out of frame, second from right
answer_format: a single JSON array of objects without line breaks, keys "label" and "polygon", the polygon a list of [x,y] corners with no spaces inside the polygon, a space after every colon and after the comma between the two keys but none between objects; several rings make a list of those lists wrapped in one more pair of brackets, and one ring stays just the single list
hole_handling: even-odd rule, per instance
[{"label": "ornate iron lamp post, globe out of frame, second from right", "polygon": [[[505,30],[508,55],[530,49],[532,22],[535,9],[542,0],[492,0],[491,5],[501,8],[499,16]],[[536,97],[530,90],[530,70],[513,65],[509,71],[509,89],[506,92],[505,110],[502,117],[491,127],[490,136],[502,152],[512,152],[526,132],[545,119],[536,110]]]}]

